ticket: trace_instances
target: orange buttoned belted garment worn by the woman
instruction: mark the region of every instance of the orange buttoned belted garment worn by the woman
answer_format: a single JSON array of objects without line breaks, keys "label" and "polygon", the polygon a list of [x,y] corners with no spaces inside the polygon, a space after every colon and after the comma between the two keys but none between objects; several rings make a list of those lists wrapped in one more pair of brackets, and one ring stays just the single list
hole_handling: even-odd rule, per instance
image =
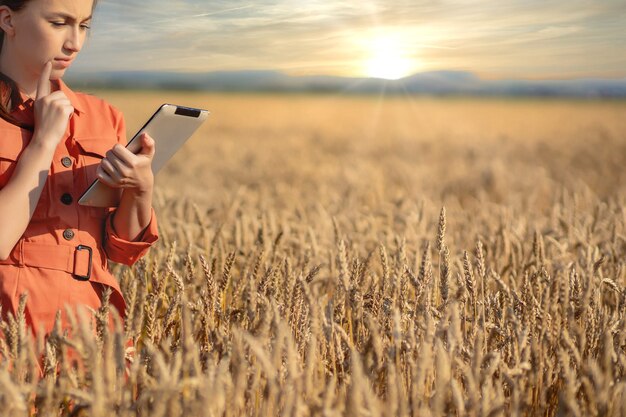
[{"label": "orange buttoned belted garment worn by the woman", "polygon": [[[20,294],[27,291],[26,322],[34,334],[52,329],[58,309],[65,322],[66,304],[100,307],[103,286],[113,289],[110,304],[125,317],[126,304],[107,259],[132,265],[158,240],[154,209],[150,224],[136,240],[128,241],[113,229],[115,208],[77,203],[96,178],[96,168],[106,152],[116,143],[126,144],[124,118],[105,101],[75,93],[62,80],[53,85],[67,95],[74,114],[55,150],[28,227],[10,257],[0,261],[2,314],[15,314]],[[33,125],[33,101],[24,101],[12,115]],[[32,132],[0,119],[0,188],[9,181],[31,137]]]}]

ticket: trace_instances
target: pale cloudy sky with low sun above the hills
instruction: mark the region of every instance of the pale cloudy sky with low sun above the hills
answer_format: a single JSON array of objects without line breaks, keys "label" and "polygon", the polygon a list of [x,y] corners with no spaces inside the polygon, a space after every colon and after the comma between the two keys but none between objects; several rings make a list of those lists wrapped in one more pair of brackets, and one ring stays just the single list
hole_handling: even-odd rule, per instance
[{"label": "pale cloudy sky with low sun above the hills", "polygon": [[72,71],[626,78],[626,0],[100,0]]}]

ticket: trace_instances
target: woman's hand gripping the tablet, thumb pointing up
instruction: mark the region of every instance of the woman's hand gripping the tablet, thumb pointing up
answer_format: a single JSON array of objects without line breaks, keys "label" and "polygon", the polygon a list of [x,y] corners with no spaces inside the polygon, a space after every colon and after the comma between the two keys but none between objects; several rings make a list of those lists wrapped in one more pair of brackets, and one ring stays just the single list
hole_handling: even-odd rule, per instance
[{"label": "woman's hand gripping the tablet, thumb pointing up", "polygon": [[154,139],[147,133],[141,135],[141,150],[133,154],[120,144],[106,153],[96,170],[98,179],[114,187],[124,188],[137,194],[152,194],[154,175],[152,158]]}]

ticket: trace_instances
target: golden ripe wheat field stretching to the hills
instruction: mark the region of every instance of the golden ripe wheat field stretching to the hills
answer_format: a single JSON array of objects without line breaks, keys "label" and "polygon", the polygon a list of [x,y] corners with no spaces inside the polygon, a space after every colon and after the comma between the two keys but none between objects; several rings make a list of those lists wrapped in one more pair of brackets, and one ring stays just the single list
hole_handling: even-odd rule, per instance
[{"label": "golden ripe wheat field stretching to the hills", "polygon": [[2,324],[4,415],[626,415],[626,102],[96,93],[211,116],[126,321]]}]

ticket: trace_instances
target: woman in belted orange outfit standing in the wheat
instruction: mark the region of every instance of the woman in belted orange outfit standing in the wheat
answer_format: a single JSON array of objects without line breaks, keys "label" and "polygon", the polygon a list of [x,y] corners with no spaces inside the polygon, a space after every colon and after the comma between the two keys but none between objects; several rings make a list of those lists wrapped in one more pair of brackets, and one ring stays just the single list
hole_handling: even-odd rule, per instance
[{"label": "woman in belted orange outfit standing in the wheat", "polygon": [[[47,334],[65,306],[99,308],[104,287],[124,317],[107,258],[132,265],[158,239],[154,141],[130,153],[122,114],[62,77],[80,52],[91,0],[0,0],[0,302]],[[98,178],[122,188],[118,207],[79,205]]]}]

